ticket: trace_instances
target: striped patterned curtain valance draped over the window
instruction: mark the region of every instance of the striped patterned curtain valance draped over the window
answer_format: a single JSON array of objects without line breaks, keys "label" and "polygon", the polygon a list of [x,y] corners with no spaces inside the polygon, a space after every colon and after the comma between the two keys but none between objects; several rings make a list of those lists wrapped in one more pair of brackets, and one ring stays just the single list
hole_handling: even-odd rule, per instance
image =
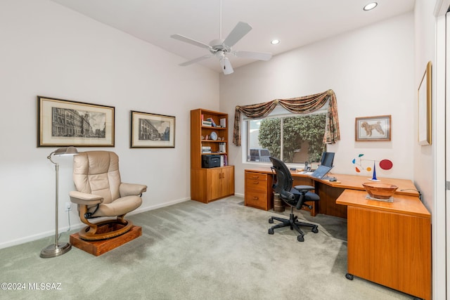
[{"label": "striped patterned curtain valance draped over the window", "polygon": [[319,110],[328,101],[328,111],[326,113],[325,135],[323,143],[334,144],[340,141],[338,103],[336,102],[335,92],[328,90],[323,93],[316,93],[311,96],[303,96],[289,99],[275,99],[266,103],[236,106],[234,113],[233,144],[240,146],[240,114],[253,119],[267,117],[274,110],[276,105],[281,105],[289,112],[294,114],[308,114]]}]

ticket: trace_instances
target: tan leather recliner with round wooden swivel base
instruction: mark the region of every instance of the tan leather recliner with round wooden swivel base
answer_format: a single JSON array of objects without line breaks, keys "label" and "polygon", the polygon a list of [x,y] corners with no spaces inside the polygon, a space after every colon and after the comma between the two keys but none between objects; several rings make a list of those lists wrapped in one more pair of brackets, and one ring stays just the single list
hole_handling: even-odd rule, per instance
[{"label": "tan leather recliner with round wooden swivel base", "polygon": [[[147,185],[122,183],[115,152],[79,152],[73,159],[73,181],[77,191],[70,192],[70,201],[78,204],[79,218],[88,225],[79,231],[79,237],[104,240],[131,229],[133,223],[124,216],[141,206]],[[88,221],[103,216],[117,218],[99,223]]]}]

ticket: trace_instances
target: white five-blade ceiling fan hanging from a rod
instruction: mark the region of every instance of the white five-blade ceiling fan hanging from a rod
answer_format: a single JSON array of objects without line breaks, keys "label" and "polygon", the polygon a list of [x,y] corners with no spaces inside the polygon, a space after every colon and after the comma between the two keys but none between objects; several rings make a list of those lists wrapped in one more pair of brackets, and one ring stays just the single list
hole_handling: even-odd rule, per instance
[{"label": "white five-blade ceiling fan hanging from a rod", "polygon": [[205,60],[207,58],[211,58],[215,56],[219,59],[219,63],[221,66],[222,72],[224,74],[233,73],[233,67],[229,61],[227,56],[236,56],[239,58],[251,58],[255,60],[270,60],[272,57],[272,53],[265,52],[252,52],[252,51],[233,51],[232,46],[234,46],[240,39],[242,39],[245,34],[248,34],[252,27],[246,22],[238,22],[238,24],[231,30],[228,37],[225,39],[221,39],[221,1],[220,1],[220,18],[219,18],[219,39],[213,39],[210,41],[210,44],[202,43],[201,41],[196,41],[195,39],[191,39],[190,37],[184,37],[181,34],[173,34],[170,37],[173,39],[178,39],[179,41],[184,41],[188,44],[192,44],[194,46],[198,46],[201,48],[206,48],[210,51],[210,54],[205,56],[200,56],[199,58],[194,58],[193,60],[188,60],[179,65],[186,66],[191,65],[193,63],[198,63],[201,60]]}]

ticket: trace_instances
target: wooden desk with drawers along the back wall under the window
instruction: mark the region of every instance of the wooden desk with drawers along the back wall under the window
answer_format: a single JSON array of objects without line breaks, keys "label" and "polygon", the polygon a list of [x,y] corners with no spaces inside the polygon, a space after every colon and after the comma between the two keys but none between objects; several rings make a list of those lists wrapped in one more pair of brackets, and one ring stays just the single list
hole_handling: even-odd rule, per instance
[{"label": "wooden desk with drawers along the back wall under the window", "polygon": [[[261,176],[265,178],[265,188],[259,184],[259,189],[256,193],[255,183],[252,183],[252,176]],[[368,176],[356,176],[345,174],[331,174],[338,181],[330,182],[319,178],[313,178],[307,174],[300,172],[291,173],[295,185],[313,185],[316,190],[315,193],[319,195],[321,200],[319,202],[311,202],[313,209],[311,216],[316,214],[328,214],[330,216],[338,216],[340,218],[347,218],[347,208],[336,204],[336,199],[344,192],[345,189],[364,190],[362,183],[369,181]],[[396,178],[379,178],[383,183],[391,183],[397,185],[399,188],[396,195],[411,195],[418,197],[419,193],[416,190],[413,182],[407,179]],[[257,167],[252,169],[245,169],[245,205],[257,207],[259,209],[269,210],[273,207],[273,193],[271,189],[272,171],[270,167]],[[264,195],[264,196],[263,196]]]}]

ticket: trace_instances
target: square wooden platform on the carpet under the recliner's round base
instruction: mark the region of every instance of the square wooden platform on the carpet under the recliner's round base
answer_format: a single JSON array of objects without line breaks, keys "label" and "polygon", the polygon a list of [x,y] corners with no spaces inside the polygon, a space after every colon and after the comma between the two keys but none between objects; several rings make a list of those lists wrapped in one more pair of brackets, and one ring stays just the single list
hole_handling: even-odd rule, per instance
[{"label": "square wooden platform on the carpet under the recliner's round base", "polygon": [[99,256],[101,254],[104,254],[110,250],[113,250],[121,246],[122,244],[134,240],[135,238],[140,237],[141,235],[142,235],[141,226],[133,226],[127,233],[124,233],[123,235],[119,235],[117,237],[110,238],[108,240],[94,240],[94,241],[82,240],[79,237],[78,233],[74,233],[73,235],[70,235],[70,244],[92,255]]}]

